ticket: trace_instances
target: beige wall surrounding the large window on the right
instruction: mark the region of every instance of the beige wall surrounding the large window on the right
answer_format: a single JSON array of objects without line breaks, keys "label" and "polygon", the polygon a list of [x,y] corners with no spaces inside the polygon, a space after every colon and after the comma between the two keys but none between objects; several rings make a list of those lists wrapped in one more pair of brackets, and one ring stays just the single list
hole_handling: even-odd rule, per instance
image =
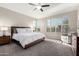
[{"label": "beige wall surrounding the large window on the right", "polygon": [[50,18],[58,18],[58,17],[63,17],[63,16],[69,16],[69,28],[70,31],[75,31],[77,30],[77,11],[71,11],[68,13],[63,13],[63,14],[58,14],[58,15],[52,15],[48,18],[41,19],[41,32],[43,32],[47,38],[56,38],[60,39],[61,38],[61,33],[58,32],[46,32],[46,19]]}]

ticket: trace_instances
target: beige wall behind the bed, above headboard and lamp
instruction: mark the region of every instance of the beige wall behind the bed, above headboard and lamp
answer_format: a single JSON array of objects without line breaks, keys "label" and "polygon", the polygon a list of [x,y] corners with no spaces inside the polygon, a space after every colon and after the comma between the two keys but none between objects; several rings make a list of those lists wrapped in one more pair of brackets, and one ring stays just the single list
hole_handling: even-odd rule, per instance
[{"label": "beige wall behind the bed, above headboard and lamp", "polygon": [[33,18],[0,7],[0,26],[31,26]]}]

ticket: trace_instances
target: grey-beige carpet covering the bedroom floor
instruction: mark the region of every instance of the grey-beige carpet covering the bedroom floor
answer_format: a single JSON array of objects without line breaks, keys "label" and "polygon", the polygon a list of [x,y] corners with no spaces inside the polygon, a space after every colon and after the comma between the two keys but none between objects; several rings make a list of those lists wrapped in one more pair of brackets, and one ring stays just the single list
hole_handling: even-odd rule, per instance
[{"label": "grey-beige carpet covering the bedroom floor", "polygon": [[0,46],[0,55],[2,56],[74,56],[72,48],[56,43],[54,41],[41,42],[28,49],[23,49],[21,46],[10,43]]}]

